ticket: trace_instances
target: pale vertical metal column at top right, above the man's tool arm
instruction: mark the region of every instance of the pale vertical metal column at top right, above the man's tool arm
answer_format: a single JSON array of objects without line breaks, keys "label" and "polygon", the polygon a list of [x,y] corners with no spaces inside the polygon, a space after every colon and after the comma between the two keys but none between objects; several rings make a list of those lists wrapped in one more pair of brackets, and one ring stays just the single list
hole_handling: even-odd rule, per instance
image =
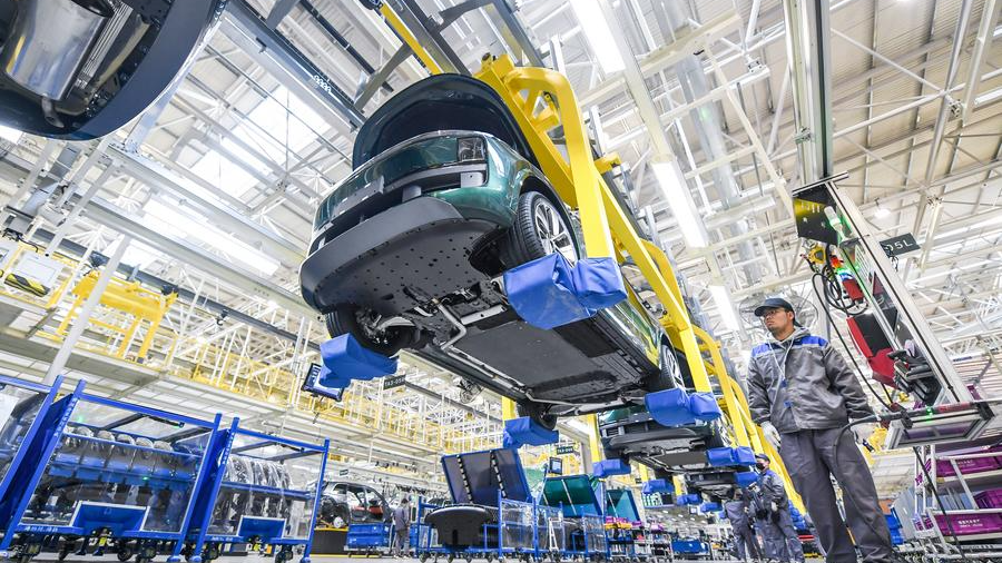
[{"label": "pale vertical metal column at top right, above the man's tool arm", "polygon": [[784,0],[800,184],[832,176],[832,56],[828,0]]}]

